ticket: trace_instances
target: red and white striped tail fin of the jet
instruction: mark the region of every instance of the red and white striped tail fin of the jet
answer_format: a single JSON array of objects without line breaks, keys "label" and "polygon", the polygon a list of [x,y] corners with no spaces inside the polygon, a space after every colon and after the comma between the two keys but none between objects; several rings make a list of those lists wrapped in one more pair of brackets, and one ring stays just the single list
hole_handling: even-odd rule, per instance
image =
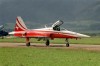
[{"label": "red and white striped tail fin of the jet", "polygon": [[23,19],[20,16],[18,16],[16,18],[15,31],[25,31],[25,30],[27,30],[27,27],[24,24]]}]

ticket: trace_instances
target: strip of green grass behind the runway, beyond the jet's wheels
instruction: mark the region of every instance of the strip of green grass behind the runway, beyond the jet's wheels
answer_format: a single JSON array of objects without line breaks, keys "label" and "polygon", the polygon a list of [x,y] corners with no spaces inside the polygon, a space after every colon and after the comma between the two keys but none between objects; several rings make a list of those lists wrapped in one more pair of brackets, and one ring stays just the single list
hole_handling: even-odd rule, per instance
[{"label": "strip of green grass behind the runway, beyond the jet's wheels", "polygon": [[[13,43],[23,43],[25,38],[5,38],[0,39],[0,42],[13,42]],[[43,43],[44,41],[37,41],[37,39],[31,38],[32,43]],[[71,44],[100,44],[100,37],[82,38],[82,39],[69,39]],[[51,40],[51,43],[65,44],[65,39],[55,39]]]}]

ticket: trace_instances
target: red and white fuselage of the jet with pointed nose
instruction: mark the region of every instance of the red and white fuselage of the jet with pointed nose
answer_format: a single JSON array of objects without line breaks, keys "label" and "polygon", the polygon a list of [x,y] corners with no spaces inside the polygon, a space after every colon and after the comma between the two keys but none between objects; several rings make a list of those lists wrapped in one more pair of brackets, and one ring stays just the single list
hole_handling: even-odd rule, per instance
[{"label": "red and white fuselage of the jet with pointed nose", "polygon": [[89,37],[84,34],[68,31],[68,30],[61,30],[55,31],[51,27],[50,28],[41,28],[41,29],[28,29],[25,31],[15,31],[15,36],[19,37],[48,37],[48,38],[82,38],[82,37]]}]

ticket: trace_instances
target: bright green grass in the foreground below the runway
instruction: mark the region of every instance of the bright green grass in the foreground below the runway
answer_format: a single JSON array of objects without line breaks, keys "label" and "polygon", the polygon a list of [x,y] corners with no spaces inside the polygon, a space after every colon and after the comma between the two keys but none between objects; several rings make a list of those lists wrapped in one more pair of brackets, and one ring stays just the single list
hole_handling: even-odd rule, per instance
[{"label": "bright green grass in the foreground below the runway", "polygon": [[0,66],[100,66],[100,51],[66,48],[0,48]]}]

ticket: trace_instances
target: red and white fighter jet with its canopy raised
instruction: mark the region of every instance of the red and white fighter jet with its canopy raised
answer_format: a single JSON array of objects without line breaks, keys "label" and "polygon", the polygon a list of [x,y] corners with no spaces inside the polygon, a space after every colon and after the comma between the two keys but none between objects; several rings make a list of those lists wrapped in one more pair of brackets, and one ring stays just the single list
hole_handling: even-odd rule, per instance
[{"label": "red and white fighter jet with its canopy raised", "polygon": [[63,21],[58,20],[51,27],[40,28],[40,29],[28,29],[24,24],[24,21],[20,16],[16,18],[16,25],[13,32],[9,34],[14,34],[16,37],[26,38],[26,46],[30,46],[30,38],[38,38],[38,41],[45,40],[46,46],[49,46],[50,39],[54,38],[65,38],[66,47],[69,47],[68,39],[77,39],[83,37],[90,37],[88,35],[68,31],[66,29],[61,30],[60,26],[63,24]]}]

